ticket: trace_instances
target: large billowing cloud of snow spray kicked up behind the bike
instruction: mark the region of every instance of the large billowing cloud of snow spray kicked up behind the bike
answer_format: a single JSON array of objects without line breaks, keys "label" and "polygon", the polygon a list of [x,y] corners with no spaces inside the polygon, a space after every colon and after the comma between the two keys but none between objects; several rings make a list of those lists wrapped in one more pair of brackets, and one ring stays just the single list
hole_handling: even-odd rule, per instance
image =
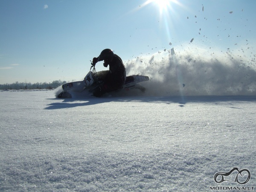
[{"label": "large billowing cloud of snow spray kicked up behind the bike", "polygon": [[165,49],[126,61],[126,74],[149,76],[143,83],[148,96],[256,95],[255,58],[241,52],[191,45]]}]

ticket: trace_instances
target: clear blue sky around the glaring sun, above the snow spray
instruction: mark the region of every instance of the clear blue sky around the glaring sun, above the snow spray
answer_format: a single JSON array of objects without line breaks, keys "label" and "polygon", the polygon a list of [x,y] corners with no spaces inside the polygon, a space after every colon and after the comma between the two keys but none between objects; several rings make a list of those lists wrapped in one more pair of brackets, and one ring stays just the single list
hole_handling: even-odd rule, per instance
[{"label": "clear blue sky around the glaring sun, above the snow spray", "polygon": [[255,0],[166,1],[0,0],[0,84],[81,80],[105,48],[127,61],[192,38],[255,45]]}]

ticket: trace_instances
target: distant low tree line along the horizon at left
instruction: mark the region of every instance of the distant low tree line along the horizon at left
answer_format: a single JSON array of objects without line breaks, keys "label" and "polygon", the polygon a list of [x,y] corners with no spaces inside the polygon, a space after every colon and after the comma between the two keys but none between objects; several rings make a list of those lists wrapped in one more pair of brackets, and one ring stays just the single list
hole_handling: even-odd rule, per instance
[{"label": "distant low tree line along the horizon at left", "polygon": [[15,83],[12,84],[0,84],[0,90],[5,90],[5,89],[9,89],[9,90],[19,90],[19,89],[55,89],[57,87],[59,87],[60,85],[67,83],[67,81],[61,81],[61,80],[55,80],[52,81],[51,83],[19,83],[18,81],[16,81]]}]

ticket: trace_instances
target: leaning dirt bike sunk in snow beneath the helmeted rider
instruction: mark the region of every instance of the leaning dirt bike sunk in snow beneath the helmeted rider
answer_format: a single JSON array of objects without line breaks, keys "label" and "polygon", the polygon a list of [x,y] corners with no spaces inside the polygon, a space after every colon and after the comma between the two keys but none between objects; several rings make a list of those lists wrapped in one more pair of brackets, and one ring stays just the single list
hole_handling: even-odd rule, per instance
[{"label": "leaning dirt bike sunk in snow beneath the helmeted rider", "polygon": [[[89,73],[84,77],[83,81],[75,81],[70,83],[65,83],[62,85],[63,91],[57,95],[57,98],[72,98],[72,93],[89,91],[93,92],[93,89],[103,82],[103,79],[108,74],[108,70],[96,72],[95,65],[91,62],[91,67]],[[145,87],[141,86],[140,82],[148,81],[148,76],[132,75],[127,76],[124,85],[116,91],[120,90],[132,90],[139,89],[145,92]]]}]

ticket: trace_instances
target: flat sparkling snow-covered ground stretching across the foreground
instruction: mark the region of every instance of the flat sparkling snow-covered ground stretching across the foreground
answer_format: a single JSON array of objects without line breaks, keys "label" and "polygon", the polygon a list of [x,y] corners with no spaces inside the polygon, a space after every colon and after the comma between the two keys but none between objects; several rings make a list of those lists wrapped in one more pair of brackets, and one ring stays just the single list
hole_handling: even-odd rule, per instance
[{"label": "flat sparkling snow-covered ground stretching across the foreground", "polygon": [[[256,186],[256,96],[55,99],[49,90],[2,91],[0,107],[0,191]],[[232,167],[250,170],[250,181],[215,183],[216,172]]]}]

